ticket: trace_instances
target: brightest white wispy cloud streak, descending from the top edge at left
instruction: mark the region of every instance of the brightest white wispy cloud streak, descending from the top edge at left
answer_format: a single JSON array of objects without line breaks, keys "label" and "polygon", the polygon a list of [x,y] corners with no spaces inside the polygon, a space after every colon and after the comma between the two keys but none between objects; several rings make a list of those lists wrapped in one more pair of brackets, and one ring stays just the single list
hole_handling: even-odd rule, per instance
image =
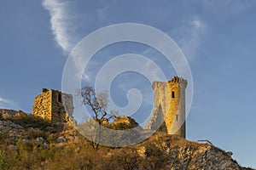
[{"label": "brightest white wispy cloud streak, descending from the top edge at left", "polygon": [[43,6],[49,11],[51,30],[55,41],[61,46],[65,53],[71,51],[74,46],[73,26],[71,17],[68,15],[67,7],[71,2],[59,0],[44,0]]}]

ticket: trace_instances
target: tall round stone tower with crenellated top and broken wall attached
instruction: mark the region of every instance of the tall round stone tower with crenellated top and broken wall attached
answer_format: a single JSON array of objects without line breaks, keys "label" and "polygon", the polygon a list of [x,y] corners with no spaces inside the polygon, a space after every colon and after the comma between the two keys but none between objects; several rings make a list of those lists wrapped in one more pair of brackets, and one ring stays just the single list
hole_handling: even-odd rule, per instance
[{"label": "tall round stone tower with crenellated top and broken wall attached", "polygon": [[168,82],[153,82],[154,110],[146,128],[186,138],[185,89],[187,81],[172,77]]}]

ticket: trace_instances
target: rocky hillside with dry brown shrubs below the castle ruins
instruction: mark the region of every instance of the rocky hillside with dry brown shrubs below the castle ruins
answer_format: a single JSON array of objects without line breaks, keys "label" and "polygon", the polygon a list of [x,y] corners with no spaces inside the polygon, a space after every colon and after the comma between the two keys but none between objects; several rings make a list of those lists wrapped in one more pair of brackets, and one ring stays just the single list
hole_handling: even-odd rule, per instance
[{"label": "rocky hillside with dry brown shrubs below the castle ruins", "polygon": [[96,149],[73,127],[25,113],[0,118],[0,169],[250,169],[230,152],[176,135],[158,132],[140,144]]}]

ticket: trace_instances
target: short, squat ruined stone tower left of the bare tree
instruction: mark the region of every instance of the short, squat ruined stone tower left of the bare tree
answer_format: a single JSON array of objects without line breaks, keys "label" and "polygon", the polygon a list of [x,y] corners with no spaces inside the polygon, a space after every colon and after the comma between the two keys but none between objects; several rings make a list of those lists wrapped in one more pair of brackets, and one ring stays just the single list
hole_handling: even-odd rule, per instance
[{"label": "short, squat ruined stone tower left of the bare tree", "polygon": [[[65,111],[63,100],[65,100],[67,111]],[[34,99],[32,114],[49,122],[68,122],[68,117],[73,117],[73,96],[43,88],[42,94]]]}]

